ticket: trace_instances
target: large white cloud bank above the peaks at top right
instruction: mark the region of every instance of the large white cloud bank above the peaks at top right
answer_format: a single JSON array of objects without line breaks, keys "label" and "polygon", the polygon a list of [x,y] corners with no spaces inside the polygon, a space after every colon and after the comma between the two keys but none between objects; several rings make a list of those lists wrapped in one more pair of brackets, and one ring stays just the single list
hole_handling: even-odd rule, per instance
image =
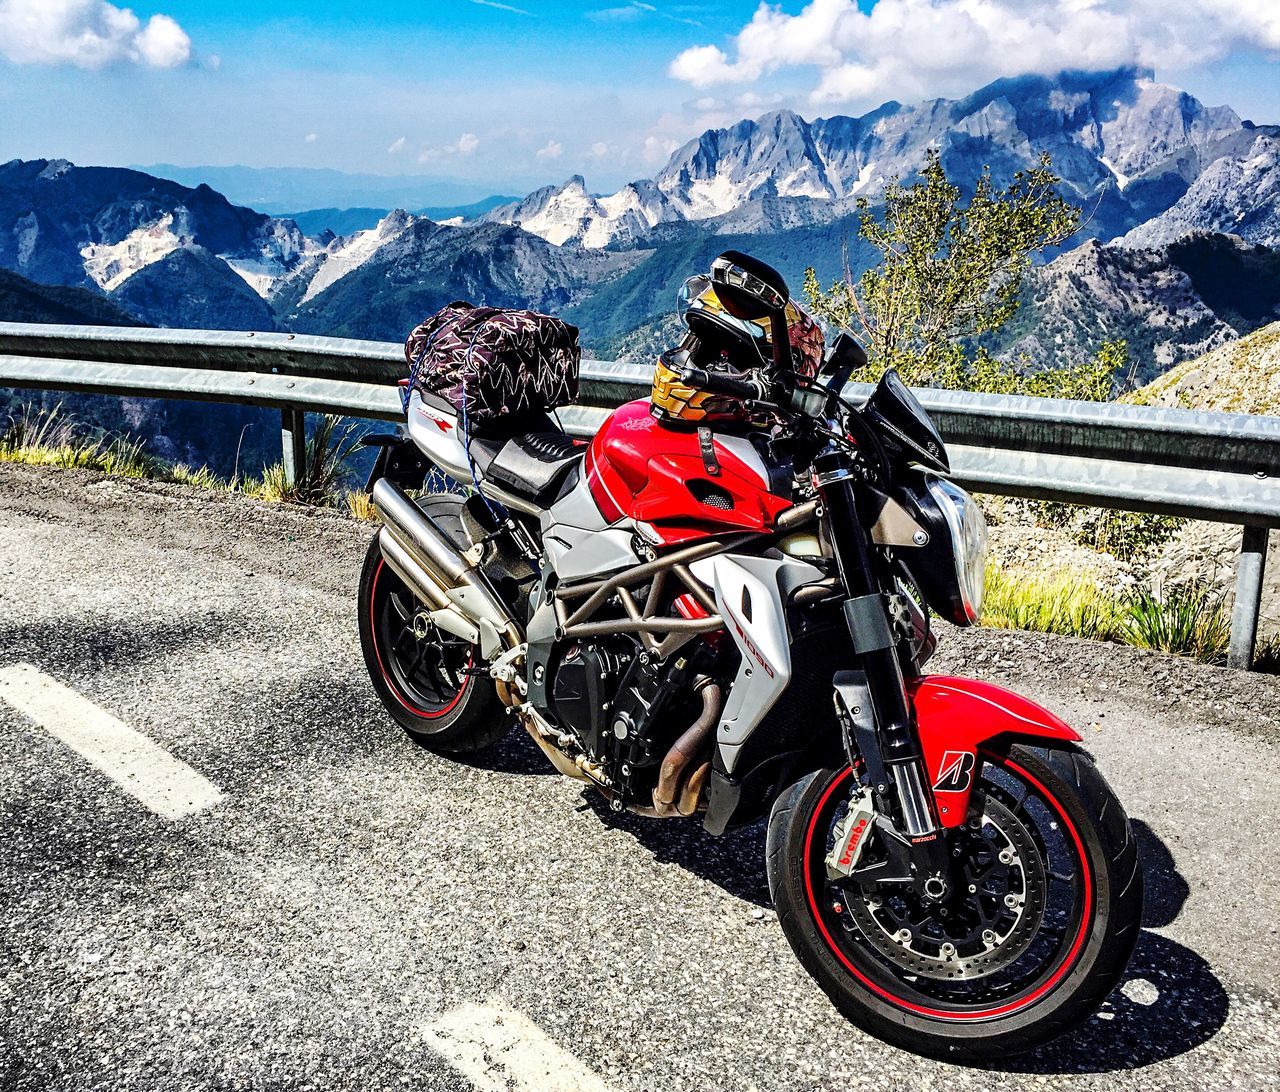
[{"label": "large white cloud bank above the peaks at top right", "polygon": [[1239,47],[1280,52],[1276,0],[810,0],[797,14],[762,3],[732,40],[681,52],[669,72],[694,87],[812,68],[814,104],[972,88],[1014,72],[1184,68]]}]

